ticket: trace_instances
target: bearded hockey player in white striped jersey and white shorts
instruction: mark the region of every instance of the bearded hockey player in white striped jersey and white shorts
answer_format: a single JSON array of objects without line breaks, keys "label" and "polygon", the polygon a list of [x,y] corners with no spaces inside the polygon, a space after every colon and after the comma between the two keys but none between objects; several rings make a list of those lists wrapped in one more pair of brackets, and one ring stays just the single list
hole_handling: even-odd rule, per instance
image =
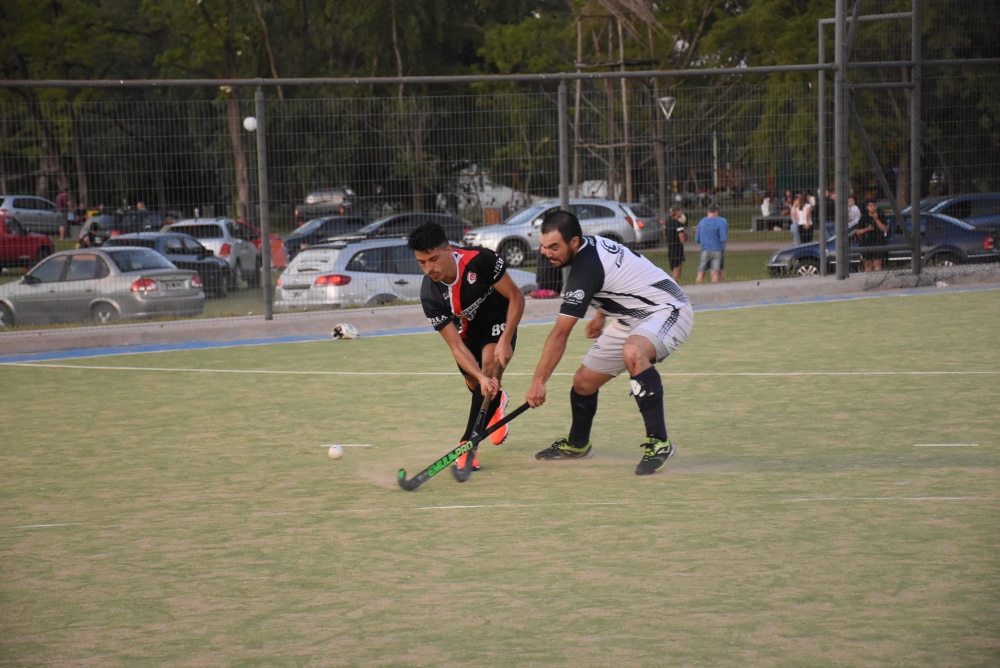
[{"label": "bearded hockey player in white striped jersey and white shorts", "polygon": [[667,435],[663,382],[654,365],[687,340],[693,323],[691,303],[667,272],[615,241],[583,236],[580,221],[567,211],[547,215],[540,233],[541,253],[554,267],[570,267],[570,274],[559,316],[525,397],[532,408],[545,403],[545,383],[566,352],[577,321],[591,306],[597,314],[586,325],[587,338],[596,341],[573,376],[569,434],[535,458],[578,459],[593,454],[590,432],[598,392],[627,370],[646,431],[635,473],[656,473],[674,454],[674,446]]}]

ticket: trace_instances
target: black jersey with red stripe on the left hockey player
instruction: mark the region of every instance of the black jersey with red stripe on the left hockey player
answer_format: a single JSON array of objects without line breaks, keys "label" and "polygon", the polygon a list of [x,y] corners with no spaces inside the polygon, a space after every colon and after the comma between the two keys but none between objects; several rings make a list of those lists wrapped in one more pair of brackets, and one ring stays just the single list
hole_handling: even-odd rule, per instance
[{"label": "black jersey with red stripe on the left hockey player", "polygon": [[493,287],[507,273],[503,258],[478,247],[454,248],[451,254],[458,264],[455,282],[441,283],[424,276],[420,287],[420,303],[434,330],[440,332],[454,322],[458,333],[467,338],[504,322],[507,298]]}]

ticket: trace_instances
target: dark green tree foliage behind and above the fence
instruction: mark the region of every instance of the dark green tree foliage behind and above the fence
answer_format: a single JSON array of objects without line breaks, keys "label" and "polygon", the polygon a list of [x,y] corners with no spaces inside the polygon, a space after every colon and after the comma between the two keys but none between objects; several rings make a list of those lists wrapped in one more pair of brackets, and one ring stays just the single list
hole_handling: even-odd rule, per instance
[{"label": "dark green tree foliage behind and above the fence", "polygon": [[[880,3],[878,10],[909,6],[909,0],[891,0]],[[923,6],[928,58],[989,58],[1000,53],[995,31],[988,29],[997,16],[995,2],[927,0]],[[864,10],[875,11],[869,3]],[[0,8],[0,76],[252,80],[698,69],[697,77],[630,80],[622,87],[610,81],[581,84],[582,111],[574,123],[588,125],[593,145],[580,149],[576,159],[592,171],[604,170],[608,182],[653,184],[665,175],[659,147],[669,147],[674,155],[700,156],[692,169],[706,169],[712,151],[709,138],[717,135],[724,161],[753,162],[776,175],[782,189],[798,188],[815,183],[815,72],[733,77],[710,68],[813,63],[817,22],[831,16],[829,0],[10,0]],[[908,34],[905,20],[862,24],[852,59],[906,59]],[[828,61],[832,40],[831,28],[826,31]],[[983,70],[936,66],[924,73],[925,191],[932,183],[953,192],[1000,188],[996,170],[984,169],[994,164],[989,156],[1000,150],[1000,101],[993,94],[995,85],[982,83]],[[856,69],[850,76],[855,83],[872,83],[905,80],[909,73],[905,68]],[[827,81],[830,93],[832,76]],[[293,118],[294,108],[276,110],[270,127],[303,133],[302,144],[295,148],[298,155],[284,152],[273,159],[275,182],[282,188],[299,192],[331,181],[357,180],[361,188],[368,187],[362,183],[373,184],[366,197],[425,208],[435,205],[435,193],[455,190],[458,172],[475,161],[476,167],[504,178],[517,174],[522,186],[527,182],[540,192],[554,190],[557,151],[551,115],[530,99],[510,95],[527,91],[551,100],[550,86],[358,83],[283,86],[273,95],[272,90],[267,89],[269,97],[300,98],[307,106],[316,99],[356,101],[350,115],[336,121],[335,143],[312,131],[325,125],[324,119]],[[0,86],[6,112],[0,126],[0,188],[9,183],[26,190],[23,184],[33,181],[30,189],[49,197],[59,187],[72,186],[91,206],[97,202],[87,201],[88,193],[114,192],[116,202],[144,198],[163,207],[211,202],[225,208],[235,205],[245,214],[253,196],[253,145],[241,129],[241,119],[252,113],[252,92],[252,86]],[[494,147],[488,154],[442,148],[483,141],[467,129],[456,130],[459,119],[417,101],[442,93],[468,93],[481,109],[494,103],[491,96],[508,94],[506,124],[511,127],[493,124],[481,129]],[[895,168],[900,184],[908,184],[907,94],[889,90],[853,96],[879,162],[890,174]],[[669,128],[656,106],[656,99],[665,95],[684,100]],[[404,102],[404,97],[412,99]],[[391,110],[381,102],[386,98],[397,100],[396,114],[375,118],[376,112]],[[88,106],[97,101],[106,106]],[[213,123],[210,129],[202,128],[210,135],[187,136],[184,133],[197,122],[185,119],[183,112],[180,118],[157,112],[156,105],[169,101],[217,102],[222,105],[222,126]],[[827,101],[832,106],[832,95]],[[133,103],[152,106],[129,107]],[[98,127],[101,134],[93,134]],[[396,147],[371,148],[389,137],[397,140]],[[608,148],[623,143],[632,146],[634,154]],[[112,150],[127,144],[135,150]],[[222,145],[229,154],[224,159],[177,162],[179,146]],[[373,151],[378,155],[372,156]],[[114,157],[118,155],[124,157]],[[162,163],[156,174],[148,174],[148,156]],[[109,182],[101,166],[115,160],[128,166],[122,171],[132,178]],[[331,164],[336,166],[327,166]],[[668,159],[666,173],[676,178],[675,168],[679,166]],[[222,169],[232,170],[233,176],[211,176]],[[142,172],[146,174],[135,176]],[[359,178],[361,173],[364,178]],[[873,167],[858,142],[852,145],[851,178],[863,188],[874,183]],[[640,194],[649,193],[635,196]]]}]

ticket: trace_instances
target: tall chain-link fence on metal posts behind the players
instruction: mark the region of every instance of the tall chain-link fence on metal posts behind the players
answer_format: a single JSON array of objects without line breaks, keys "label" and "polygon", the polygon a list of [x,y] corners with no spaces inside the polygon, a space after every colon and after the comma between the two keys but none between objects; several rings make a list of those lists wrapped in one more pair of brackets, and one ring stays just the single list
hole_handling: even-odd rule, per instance
[{"label": "tall chain-link fence on metal posts behind the players", "polygon": [[[835,242],[825,241],[833,233],[834,203],[820,201],[833,192],[833,123],[826,125],[822,144],[817,68],[774,70],[517,82],[481,77],[452,84],[442,79],[434,94],[416,94],[417,86],[398,82],[327,86],[320,94],[304,83],[299,96],[287,99],[254,85],[260,82],[246,82],[232,98],[222,92],[226,99],[220,100],[173,99],[180,97],[176,88],[152,86],[89,95],[57,88],[67,95],[53,95],[53,101],[5,95],[0,191],[7,226],[14,228],[5,234],[34,229],[54,243],[5,236],[18,240],[4,259],[10,266],[2,277],[5,289],[18,291],[17,300],[37,298],[39,304],[7,301],[4,317],[30,325],[261,312],[264,295],[270,297],[269,277],[262,281],[260,273],[264,243],[274,268],[270,279],[281,278],[277,310],[413,301],[414,294],[399,288],[398,275],[419,279],[419,267],[392,239],[431,214],[447,223],[456,242],[465,237],[503,254],[526,272],[519,282],[531,291],[538,287],[532,280],[538,248],[533,222],[567,195],[588,231],[617,237],[665,268],[671,255],[676,265],[670,242],[685,228],[686,260],[677,274],[682,284],[694,281],[695,229],[711,203],[729,222],[726,280],[822,273],[824,259],[836,261]],[[909,70],[890,73],[898,78],[900,71],[905,76]],[[924,195],[1000,191],[998,77],[995,68],[982,66],[938,63],[928,69]],[[909,202],[909,91],[869,86],[886,80],[885,69],[851,73],[857,85],[851,102],[865,141],[860,133],[852,136],[847,192],[856,198],[857,212],[847,213],[848,261],[851,271],[873,275],[912,268],[905,212],[900,220],[891,207],[893,198]],[[207,89],[198,90],[204,97]],[[254,93],[263,100],[260,106]],[[833,111],[830,99],[827,114]],[[266,140],[262,170],[258,140]],[[824,161],[827,169],[821,170]],[[60,184],[67,192],[59,192]],[[258,206],[261,185],[265,221]],[[879,225],[870,224],[868,201],[880,212]],[[997,196],[962,202],[922,224],[924,264],[996,264]],[[673,216],[671,207],[677,208]],[[270,242],[260,239],[262,223]],[[130,236],[164,224],[198,243]],[[865,226],[878,231],[854,234]],[[374,241],[344,250],[315,248],[359,237],[385,239],[386,248]],[[80,251],[79,259],[50,261],[52,266],[21,280],[22,267],[81,241],[93,248]],[[150,273],[150,255],[109,255],[115,247],[135,245],[155,248],[198,277],[165,268],[160,280]],[[293,258],[303,266],[286,268]],[[833,273],[832,264],[828,270]],[[58,288],[37,285],[49,281]],[[414,276],[407,282],[419,285]],[[295,298],[292,285],[298,286]],[[181,294],[199,287],[210,299]]]}]

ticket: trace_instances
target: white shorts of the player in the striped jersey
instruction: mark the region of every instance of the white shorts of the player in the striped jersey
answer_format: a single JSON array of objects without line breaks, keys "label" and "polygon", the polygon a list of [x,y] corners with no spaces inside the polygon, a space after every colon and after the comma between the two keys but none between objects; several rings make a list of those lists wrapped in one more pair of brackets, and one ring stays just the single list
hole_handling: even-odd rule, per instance
[{"label": "white shorts of the player in the striped jersey", "polygon": [[622,349],[630,336],[649,339],[656,348],[656,361],[662,362],[687,341],[694,324],[694,312],[690,304],[676,309],[657,311],[632,327],[622,327],[617,320],[609,317],[610,323],[590,347],[583,365],[588,369],[617,377],[625,371]]}]

